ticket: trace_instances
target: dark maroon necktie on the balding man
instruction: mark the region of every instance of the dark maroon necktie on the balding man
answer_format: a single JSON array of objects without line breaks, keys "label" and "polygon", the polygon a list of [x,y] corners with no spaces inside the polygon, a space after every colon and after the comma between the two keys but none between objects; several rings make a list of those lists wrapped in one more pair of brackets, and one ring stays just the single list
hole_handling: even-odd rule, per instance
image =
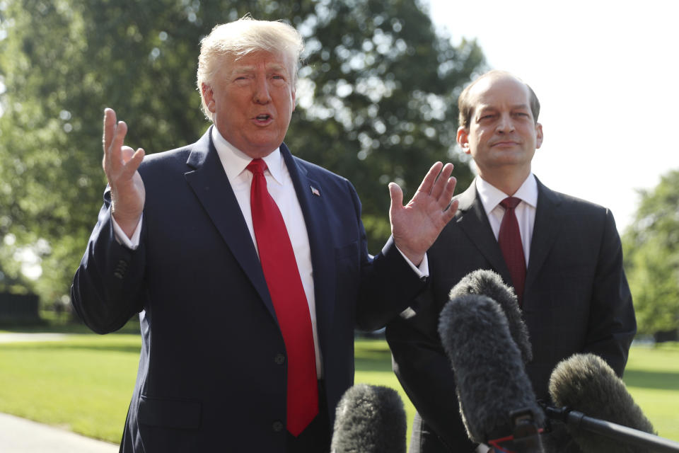
[{"label": "dark maroon necktie on the balding man", "polygon": [[523,302],[523,285],[526,282],[526,257],[523,256],[521,233],[518,231],[518,222],[514,213],[514,208],[520,202],[521,199],[516,197],[507,197],[500,202],[505,211],[497,236],[519,305]]}]

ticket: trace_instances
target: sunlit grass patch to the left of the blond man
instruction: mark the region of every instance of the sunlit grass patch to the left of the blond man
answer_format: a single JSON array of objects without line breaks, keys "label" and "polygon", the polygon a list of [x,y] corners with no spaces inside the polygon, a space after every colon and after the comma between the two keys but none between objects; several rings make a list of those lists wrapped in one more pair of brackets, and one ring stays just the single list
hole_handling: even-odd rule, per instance
[{"label": "sunlit grass patch to the left of the blond man", "polygon": [[139,363],[138,335],[0,345],[0,412],[120,442]]}]

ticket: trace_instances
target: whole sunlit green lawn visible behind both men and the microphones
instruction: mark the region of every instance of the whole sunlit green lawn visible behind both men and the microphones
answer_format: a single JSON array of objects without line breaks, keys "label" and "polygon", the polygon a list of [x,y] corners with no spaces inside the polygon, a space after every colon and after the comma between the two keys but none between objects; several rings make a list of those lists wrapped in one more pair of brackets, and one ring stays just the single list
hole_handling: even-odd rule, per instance
[{"label": "whole sunlit green lawn visible behind both men and the microphones", "polygon": [[[140,345],[134,334],[0,343],[0,412],[119,442]],[[391,371],[383,340],[356,340],[356,382],[399,391],[410,437],[414,408]],[[679,441],[679,345],[632,348],[625,382],[658,435]]]}]

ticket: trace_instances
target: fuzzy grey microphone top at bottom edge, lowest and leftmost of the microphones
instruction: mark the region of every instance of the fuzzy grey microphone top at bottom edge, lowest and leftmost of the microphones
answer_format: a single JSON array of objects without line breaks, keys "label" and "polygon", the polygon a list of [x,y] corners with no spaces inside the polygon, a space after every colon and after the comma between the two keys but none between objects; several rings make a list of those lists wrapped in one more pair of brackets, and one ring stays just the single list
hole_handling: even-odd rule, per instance
[{"label": "fuzzy grey microphone top at bottom edge, lowest and leftmost of the microphones", "polygon": [[406,453],[405,409],[397,391],[356,384],[337,404],[331,453]]}]

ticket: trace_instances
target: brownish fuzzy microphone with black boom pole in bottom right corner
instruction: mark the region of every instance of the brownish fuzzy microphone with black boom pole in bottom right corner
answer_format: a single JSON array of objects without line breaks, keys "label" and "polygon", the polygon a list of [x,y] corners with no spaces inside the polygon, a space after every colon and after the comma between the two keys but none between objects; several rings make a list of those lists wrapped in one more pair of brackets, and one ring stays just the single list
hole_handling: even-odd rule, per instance
[{"label": "brownish fuzzy microphone with black boom pole in bottom right corner", "polygon": [[547,415],[566,422],[567,432],[585,453],[679,452],[679,443],[654,435],[625,383],[597,355],[575,354],[559,362],[549,391],[562,409],[547,408]]}]

